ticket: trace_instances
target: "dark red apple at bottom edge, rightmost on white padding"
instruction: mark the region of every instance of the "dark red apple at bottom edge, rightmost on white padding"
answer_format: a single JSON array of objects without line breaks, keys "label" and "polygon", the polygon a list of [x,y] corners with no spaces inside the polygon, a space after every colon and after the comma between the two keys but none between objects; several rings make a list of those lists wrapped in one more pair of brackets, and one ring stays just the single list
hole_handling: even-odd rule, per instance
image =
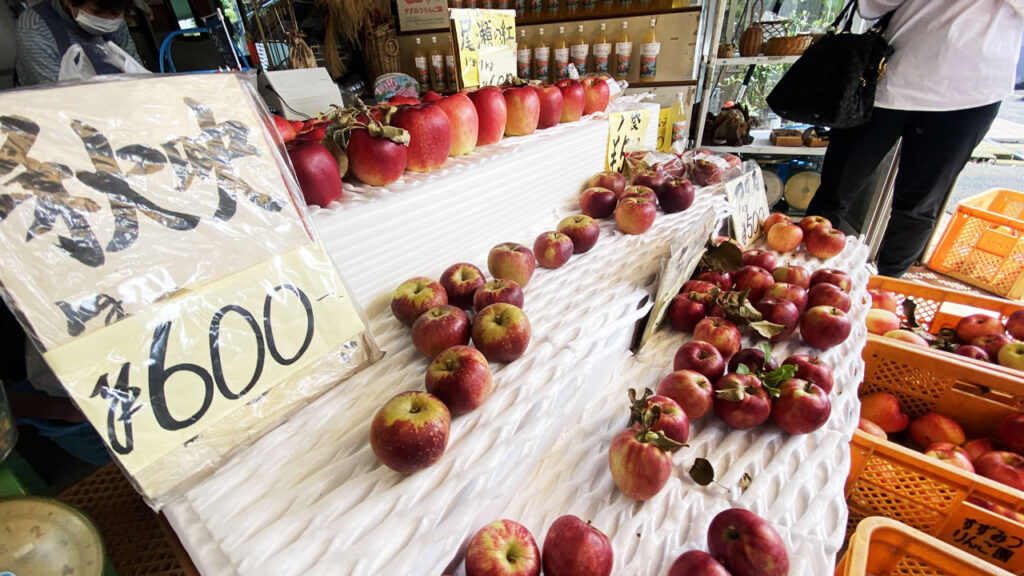
[{"label": "dark red apple at bottom edge, rightmost on white padding", "polygon": [[733,576],[790,574],[790,554],[778,532],[743,508],[723,510],[711,521],[708,551]]}]

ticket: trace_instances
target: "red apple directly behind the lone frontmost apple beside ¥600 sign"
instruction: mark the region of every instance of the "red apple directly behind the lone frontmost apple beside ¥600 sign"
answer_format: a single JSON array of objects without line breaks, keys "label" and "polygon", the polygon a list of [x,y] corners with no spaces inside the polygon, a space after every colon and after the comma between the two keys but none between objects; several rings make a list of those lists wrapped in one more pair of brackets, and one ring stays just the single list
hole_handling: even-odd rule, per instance
[{"label": "red apple directly behind the lone frontmost apple beside \u00a5600 sign", "polygon": [[490,366],[473,346],[444,348],[427,367],[427,392],[447,406],[452,414],[476,410],[490,397]]}]

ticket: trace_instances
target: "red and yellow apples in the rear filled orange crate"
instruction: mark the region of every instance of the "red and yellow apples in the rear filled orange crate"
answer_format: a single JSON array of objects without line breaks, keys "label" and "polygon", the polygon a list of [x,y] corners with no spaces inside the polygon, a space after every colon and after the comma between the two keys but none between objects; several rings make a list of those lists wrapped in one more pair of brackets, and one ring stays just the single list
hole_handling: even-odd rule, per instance
[{"label": "red and yellow apples in the rear filled orange crate", "polygon": [[965,316],[951,334],[936,336],[900,319],[895,293],[873,288],[868,292],[871,310],[865,322],[871,334],[1024,370],[1024,308],[1011,314],[1006,324],[986,314]]}]

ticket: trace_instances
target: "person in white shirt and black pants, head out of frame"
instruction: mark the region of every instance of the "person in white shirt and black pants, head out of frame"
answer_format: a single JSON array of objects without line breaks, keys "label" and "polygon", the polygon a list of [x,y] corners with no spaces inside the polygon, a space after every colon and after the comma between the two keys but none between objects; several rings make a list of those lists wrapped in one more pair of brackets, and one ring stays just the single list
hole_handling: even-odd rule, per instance
[{"label": "person in white shirt and black pants, head out of frame", "polygon": [[900,277],[921,257],[956,176],[1013,94],[1024,0],[859,0],[864,19],[893,11],[893,48],[871,120],[834,129],[808,215],[838,227],[902,138],[879,274]]}]

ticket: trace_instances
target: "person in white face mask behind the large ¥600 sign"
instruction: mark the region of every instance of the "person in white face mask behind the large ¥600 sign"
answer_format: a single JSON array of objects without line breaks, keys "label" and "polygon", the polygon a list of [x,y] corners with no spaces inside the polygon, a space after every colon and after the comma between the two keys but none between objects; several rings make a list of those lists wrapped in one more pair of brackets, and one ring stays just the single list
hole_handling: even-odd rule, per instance
[{"label": "person in white face mask behind the large \u00a5600 sign", "polygon": [[108,42],[139,61],[124,14],[132,0],[41,0],[17,19],[15,71],[22,86],[61,80],[60,63],[75,44],[100,74],[124,72]]}]

